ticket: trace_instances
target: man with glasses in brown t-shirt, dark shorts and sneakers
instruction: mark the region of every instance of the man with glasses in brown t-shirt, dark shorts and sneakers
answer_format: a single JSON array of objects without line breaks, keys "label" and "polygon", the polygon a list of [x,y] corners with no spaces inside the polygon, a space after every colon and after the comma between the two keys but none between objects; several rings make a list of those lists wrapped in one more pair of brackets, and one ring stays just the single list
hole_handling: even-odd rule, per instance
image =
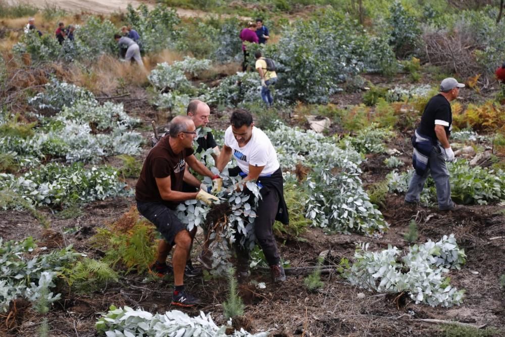
[{"label": "man with glasses in brown t-shirt, dark shorts and sneakers", "polygon": [[207,204],[218,201],[218,198],[201,189],[198,192],[182,192],[186,163],[195,172],[211,177],[219,186],[221,179],[194,157],[195,137],[195,126],[190,118],[177,116],[172,119],[169,136],[163,137],[149,151],[135,186],[138,211],[155,224],[164,238],[158,244],[157,259],[150,270],[160,276],[169,273],[172,268],[166,264],[167,256],[176,246],[172,254],[175,285],[172,304],[184,307],[195,305],[199,300],[184,290],[184,267],[191,236],[174,210],[185,200],[197,199]]}]

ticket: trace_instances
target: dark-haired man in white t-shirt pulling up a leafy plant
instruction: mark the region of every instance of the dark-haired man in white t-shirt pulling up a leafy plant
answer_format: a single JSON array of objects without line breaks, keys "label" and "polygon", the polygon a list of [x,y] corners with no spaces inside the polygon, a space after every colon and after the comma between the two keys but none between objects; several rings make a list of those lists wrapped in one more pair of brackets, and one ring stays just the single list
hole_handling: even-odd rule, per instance
[{"label": "dark-haired man in white t-shirt pulling up a leafy plant", "polygon": [[[242,184],[253,180],[261,186],[262,199],[256,210],[255,234],[271,268],[274,282],[284,282],[286,275],[280,263],[272,231],[275,220],[284,224],[289,223],[284,201],[282,171],[277,160],[277,153],[268,136],[254,126],[252,115],[248,111],[235,110],[231,115],[230,124],[231,126],[226,129],[223,150],[216,166],[219,171],[222,171],[233,155],[238,167],[229,170],[230,176],[240,174],[243,177]],[[248,254],[247,251],[237,251],[239,276],[247,273]]]}]

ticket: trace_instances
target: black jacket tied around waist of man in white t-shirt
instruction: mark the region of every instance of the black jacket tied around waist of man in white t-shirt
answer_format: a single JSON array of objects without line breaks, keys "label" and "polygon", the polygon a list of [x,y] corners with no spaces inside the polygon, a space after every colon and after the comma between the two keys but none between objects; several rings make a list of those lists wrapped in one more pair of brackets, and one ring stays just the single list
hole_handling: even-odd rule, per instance
[{"label": "black jacket tied around waist of man in white t-shirt", "polygon": [[[247,174],[242,172],[242,170],[236,166],[234,168],[228,169],[230,176],[240,175],[242,178]],[[277,214],[275,220],[282,222],[283,224],[289,224],[289,215],[287,212],[286,201],[284,200],[284,178],[282,177],[282,170],[279,167],[274,173],[258,177],[256,183],[261,187],[260,193],[262,196],[266,196],[270,191],[276,191],[279,196],[279,206],[277,208]]]}]

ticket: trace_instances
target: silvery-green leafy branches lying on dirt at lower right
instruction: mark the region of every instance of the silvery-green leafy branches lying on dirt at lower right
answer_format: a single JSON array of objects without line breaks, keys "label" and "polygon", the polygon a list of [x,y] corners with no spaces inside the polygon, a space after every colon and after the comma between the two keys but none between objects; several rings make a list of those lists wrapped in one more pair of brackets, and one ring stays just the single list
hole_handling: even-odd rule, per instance
[{"label": "silvery-green leafy branches lying on dirt at lower right", "polygon": [[437,243],[428,240],[422,245],[402,252],[388,245],[388,249],[369,252],[369,244],[356,250],[355,262],[343,271],[352,284],[369,291],[408,292],[416,303],[432,307],[451,307],[463,302],[465,291],[452,287],[450,278],[443,276],[450,269],[460,269],[465,263],[465,252],[458,248],[453,234],[444,235]]}]

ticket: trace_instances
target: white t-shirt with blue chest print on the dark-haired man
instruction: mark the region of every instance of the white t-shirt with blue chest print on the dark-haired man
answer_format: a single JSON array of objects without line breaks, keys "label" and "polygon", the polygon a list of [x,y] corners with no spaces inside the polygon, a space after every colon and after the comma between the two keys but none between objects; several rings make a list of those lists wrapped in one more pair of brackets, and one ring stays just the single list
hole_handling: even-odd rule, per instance
[{"label": "white t-shirt with blue chest print on the dark-haired man", "polygon": [[229,126],[224,133],[224,144],[231,148],[238,167],[244,173],[249,174],[249,164],[252,166],[265,166],[260,173],[260,177],[270,175],[280,167],[272,142],[265,132],[256,126],[252,127],[252,136],[243,148],[238,146],[231,126]]}]

